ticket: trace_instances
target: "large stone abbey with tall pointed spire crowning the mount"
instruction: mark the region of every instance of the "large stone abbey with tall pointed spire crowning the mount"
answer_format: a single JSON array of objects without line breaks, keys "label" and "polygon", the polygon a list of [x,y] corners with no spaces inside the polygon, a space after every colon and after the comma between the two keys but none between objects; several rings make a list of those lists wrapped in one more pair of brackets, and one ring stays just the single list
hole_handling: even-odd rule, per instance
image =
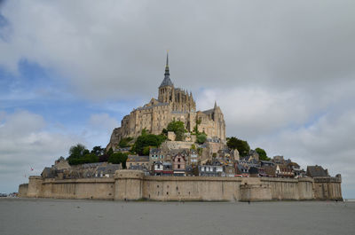
[{"label": "large stone abbey with tall pointed spire crowning the mount", "polygon": [[205,132],[209,138],[225,143],[225,118],[220,107],[215,102],[215,106],[209,110],[196,111],[193,94],[175,88],[171,82],[167,55],[158,99],[152,98],[145,106],[133,109],[129,115],[124,116],[121,127],[114,129],[107,148],[116,148],[123,137],[138,137],[142,129],[159,135],[173,120],[184,121],[185,129],[190,132],[193,132],[197,121],[199,132]]}]

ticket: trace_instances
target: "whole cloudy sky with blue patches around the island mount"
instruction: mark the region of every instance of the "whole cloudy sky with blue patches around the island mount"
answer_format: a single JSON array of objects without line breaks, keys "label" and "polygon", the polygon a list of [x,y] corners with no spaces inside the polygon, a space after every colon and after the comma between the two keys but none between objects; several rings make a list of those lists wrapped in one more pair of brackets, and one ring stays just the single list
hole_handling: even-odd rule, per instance
[{"label": "whole cloudy sky with blue patches around the island mount", "polygon": [[[229,137],[342,174],[355,198],[355,2],[1,1],[0,192],[106,146],[170,78]],[[34,170],[31,170],[33,168]]]}]

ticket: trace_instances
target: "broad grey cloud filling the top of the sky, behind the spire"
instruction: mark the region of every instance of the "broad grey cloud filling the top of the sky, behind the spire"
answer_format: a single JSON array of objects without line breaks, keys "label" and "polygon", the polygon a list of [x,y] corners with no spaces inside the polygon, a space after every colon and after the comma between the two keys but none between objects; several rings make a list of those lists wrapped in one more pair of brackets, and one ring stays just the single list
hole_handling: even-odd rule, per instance
[{"label": "broad grey cloud filling the top of the sky, behind the spire", "polygon": [[7,1],[0,64],[36,61],[85,98],[146,97],[170,49],[177,86],[314,90],[355,74],[354,10],[353,1]]}]

